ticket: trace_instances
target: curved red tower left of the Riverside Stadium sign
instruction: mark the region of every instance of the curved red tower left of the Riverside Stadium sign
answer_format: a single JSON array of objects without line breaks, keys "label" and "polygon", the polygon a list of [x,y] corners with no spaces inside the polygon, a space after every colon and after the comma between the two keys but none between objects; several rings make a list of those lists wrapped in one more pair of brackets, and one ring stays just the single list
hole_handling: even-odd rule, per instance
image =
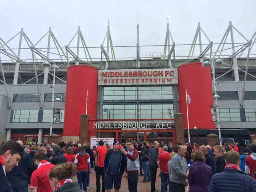
[{"label": "curved red tower left of the Riverside Stadium sign", "polygon": [[98,70],[85,65],[70,66],[63,136],[79,136],[80,115],[86,113],[86,90],[88,90],[88,115],[90,119],[97,119]]}]

